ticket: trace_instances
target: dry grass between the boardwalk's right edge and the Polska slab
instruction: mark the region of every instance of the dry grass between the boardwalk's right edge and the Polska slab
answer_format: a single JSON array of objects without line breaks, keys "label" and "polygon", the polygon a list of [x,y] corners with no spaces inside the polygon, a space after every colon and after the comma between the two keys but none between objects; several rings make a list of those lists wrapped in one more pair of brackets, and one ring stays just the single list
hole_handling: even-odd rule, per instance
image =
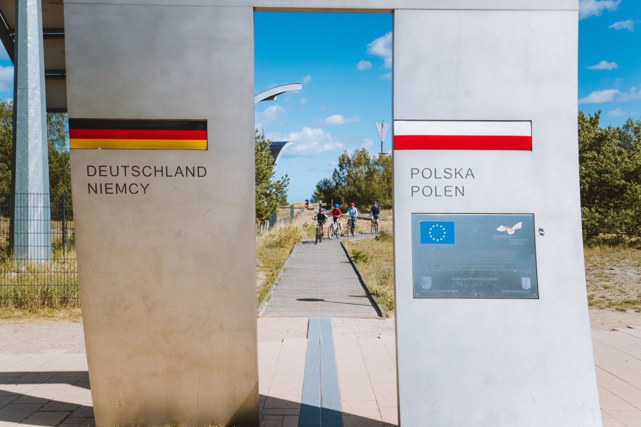
[{"label": "dry grass between the boardwalk's right edge and the Polska slab", "polygon": [[392,234],[383,229],[376,240],[345,241],[365,282],[386,311],[394,310],[394,245]]}]

